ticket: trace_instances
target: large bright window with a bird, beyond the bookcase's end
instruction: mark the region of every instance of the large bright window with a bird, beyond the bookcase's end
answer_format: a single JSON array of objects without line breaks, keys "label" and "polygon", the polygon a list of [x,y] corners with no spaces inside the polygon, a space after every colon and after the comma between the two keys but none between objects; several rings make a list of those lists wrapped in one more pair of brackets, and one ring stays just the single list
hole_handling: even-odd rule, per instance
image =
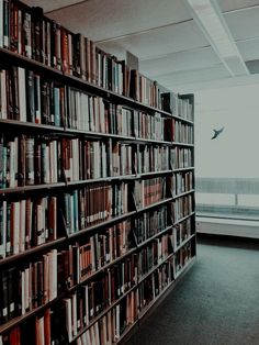
[{"label": "large bright window with a bird, beyond the bookcase's end", "polygon": [[195,93],[195,176],[198,214],[259,219],[259,85]]}]

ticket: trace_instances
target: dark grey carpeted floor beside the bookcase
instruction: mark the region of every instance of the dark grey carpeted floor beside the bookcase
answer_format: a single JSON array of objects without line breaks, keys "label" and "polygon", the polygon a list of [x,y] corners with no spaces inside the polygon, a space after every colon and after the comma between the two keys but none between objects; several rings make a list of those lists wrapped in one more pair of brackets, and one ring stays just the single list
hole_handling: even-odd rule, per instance
[{"label": "dark grey carpeted floor beside the bookcase", "polygon": [[199,240],[198,259],[126,345],[259,345],[259,245]]}]

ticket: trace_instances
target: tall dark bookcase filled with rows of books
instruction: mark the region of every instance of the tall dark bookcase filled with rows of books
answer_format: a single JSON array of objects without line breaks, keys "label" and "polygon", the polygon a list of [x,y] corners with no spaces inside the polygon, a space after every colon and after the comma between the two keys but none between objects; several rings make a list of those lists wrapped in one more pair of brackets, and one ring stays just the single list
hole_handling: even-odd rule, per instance
[{"label": "tall dark bookcase filled with rows of books", "polygon": [[193,94],[0,13],[0,345],[120,343],[195,259]]}]

